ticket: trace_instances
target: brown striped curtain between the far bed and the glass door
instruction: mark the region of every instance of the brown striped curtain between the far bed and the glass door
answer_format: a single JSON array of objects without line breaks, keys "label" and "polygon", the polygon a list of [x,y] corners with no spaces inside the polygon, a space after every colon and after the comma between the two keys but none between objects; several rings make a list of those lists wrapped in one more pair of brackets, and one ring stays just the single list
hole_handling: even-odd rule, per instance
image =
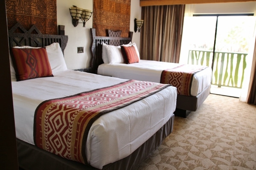
[{"label": "brown striped curtain between the far bed and the glass door", "polygon": [[141,59],[179,62],[185,5],[142,7]]}]

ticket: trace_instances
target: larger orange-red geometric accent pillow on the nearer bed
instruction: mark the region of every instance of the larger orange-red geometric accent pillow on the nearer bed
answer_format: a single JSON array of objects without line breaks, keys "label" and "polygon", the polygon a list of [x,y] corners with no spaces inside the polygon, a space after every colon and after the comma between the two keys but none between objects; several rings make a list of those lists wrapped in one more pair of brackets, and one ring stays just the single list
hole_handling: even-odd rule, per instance
[{"label": "larger orange-red geometric accent pillow on the nearer bed", "polygon": [[52,77],[45,48],[12,48],[17,81]]}]

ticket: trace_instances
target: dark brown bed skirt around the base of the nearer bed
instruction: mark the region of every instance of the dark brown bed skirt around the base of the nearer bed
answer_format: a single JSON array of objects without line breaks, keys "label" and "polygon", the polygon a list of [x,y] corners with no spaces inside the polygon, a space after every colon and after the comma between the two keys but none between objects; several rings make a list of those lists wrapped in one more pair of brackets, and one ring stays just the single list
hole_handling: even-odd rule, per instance
[{"label": "dark brown bed skirt around the base of the nearer bed", "polygon": [[[150,139],[131,155],[105,165],[103,170],[132,170],[148,158],[163,140],[172,133],[174,115]],[[24,170],[98,170],[97,168],[64,159],[55,154],[41,150],[35,145],[17,139],[19,167]]]}]

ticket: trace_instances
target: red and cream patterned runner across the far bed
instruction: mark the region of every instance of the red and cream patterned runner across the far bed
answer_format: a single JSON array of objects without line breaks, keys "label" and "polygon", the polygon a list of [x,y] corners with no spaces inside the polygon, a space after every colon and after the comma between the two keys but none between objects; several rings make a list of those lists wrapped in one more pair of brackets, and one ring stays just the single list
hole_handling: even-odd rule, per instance
[{"label": "red and cream patterned runner across the far bed", "polygon": [[207,66],[180,65],[166,69],[161,74],[160,83],[170,84],[177,88],[177,94],[191,96],[191,84],[194,74],[204,70]]}]

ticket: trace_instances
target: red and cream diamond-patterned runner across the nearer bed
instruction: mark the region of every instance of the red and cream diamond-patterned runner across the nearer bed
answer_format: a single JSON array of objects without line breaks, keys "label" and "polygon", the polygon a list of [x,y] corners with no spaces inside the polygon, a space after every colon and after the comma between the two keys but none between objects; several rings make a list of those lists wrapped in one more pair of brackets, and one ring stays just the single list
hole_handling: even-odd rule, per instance
[{"label": "red and cream diamond-patterned runner across the nearer bed", "polygon": [[85,145],[99,116],[130,105],[169,85],[128,80],[106,88],[42,102],[35,111],[34,142],[66,159],[87,164]]}]

